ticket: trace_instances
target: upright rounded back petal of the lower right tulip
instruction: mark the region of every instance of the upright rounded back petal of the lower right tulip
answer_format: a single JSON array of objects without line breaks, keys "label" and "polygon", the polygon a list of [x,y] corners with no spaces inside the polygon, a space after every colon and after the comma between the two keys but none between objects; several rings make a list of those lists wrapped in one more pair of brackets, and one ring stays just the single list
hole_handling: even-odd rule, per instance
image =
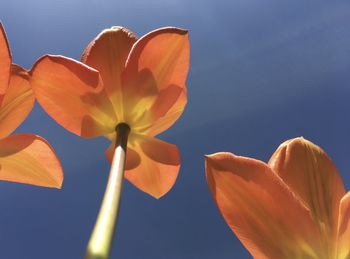
[{"label": "upright rounded back petal of the lower right tulip", "polygon": [[322,229],[324,246],[333,251],[339,202],[345,194],[333,162],[320,147],[295,138],[280,145],[269,165],[310,209]]}]

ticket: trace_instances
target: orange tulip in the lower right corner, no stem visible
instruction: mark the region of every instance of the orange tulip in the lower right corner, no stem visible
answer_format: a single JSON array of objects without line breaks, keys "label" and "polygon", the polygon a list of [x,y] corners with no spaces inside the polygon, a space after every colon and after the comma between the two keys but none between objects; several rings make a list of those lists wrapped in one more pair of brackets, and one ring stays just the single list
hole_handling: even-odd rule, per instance
[{"label": "orange tulip in the lower right corner, no stem visible", "polygon": [[310,141],[284,142],[268,164],[209,155],[206,176],[226,223],[254,258],[350,258],[350,192]]}]

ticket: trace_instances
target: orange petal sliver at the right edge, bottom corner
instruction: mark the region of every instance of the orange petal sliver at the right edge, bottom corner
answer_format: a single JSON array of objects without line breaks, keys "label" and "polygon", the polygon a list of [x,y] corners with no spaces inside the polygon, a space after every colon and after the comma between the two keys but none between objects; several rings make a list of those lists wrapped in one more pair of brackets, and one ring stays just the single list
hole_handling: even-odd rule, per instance
[{"label": "orange petal sliver at the right edge, bottom corner", "polygon": [[350,192],[340,201],[337,258],[350,258]]}]

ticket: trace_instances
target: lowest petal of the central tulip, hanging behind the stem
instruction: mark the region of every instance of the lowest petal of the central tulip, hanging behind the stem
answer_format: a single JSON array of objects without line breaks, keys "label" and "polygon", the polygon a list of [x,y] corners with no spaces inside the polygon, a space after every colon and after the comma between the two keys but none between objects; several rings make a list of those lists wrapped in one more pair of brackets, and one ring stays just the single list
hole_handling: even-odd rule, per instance
[{"label": "lowest petal of the central tulip, hanging behind the stem", "polygon": [[[174,185],[180,154],[175,145],[156,138],[131,134],[126,154],[125,178],[140,190],[159,199]],[[114,145],[107,151],[111,160]]]}]

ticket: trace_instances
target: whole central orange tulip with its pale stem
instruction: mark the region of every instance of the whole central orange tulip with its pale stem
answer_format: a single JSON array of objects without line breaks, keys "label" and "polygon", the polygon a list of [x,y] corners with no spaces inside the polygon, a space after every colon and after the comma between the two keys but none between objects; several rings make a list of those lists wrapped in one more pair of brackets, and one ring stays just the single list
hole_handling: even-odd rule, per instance
[{"label": "whole central orange tulip with its pale stem", "polygon": [[[31,83],[48,114],[78,136],[112,141],[107,157],[114,162],[105,197],[115,199],[105,198],[96,226],[104,208],[109,214],[118,210],[124,169],[126,179],[155,198],[173,186],[180,167],[178,149],[155,135],[183,112],[188,69],[187,31],[171,27],[140,39],[126,28],[112,27],[87,46],[81,62],[47,55],[33,66]],[[108,228],[114,228],[113,222]],[[106,228],[95,228],[93,236],[97,232],[106,236]],[[110,241],[97,243],[106,242]],[[109,248],[97,250],[94,253],[102,258],[108,256]]]}]

